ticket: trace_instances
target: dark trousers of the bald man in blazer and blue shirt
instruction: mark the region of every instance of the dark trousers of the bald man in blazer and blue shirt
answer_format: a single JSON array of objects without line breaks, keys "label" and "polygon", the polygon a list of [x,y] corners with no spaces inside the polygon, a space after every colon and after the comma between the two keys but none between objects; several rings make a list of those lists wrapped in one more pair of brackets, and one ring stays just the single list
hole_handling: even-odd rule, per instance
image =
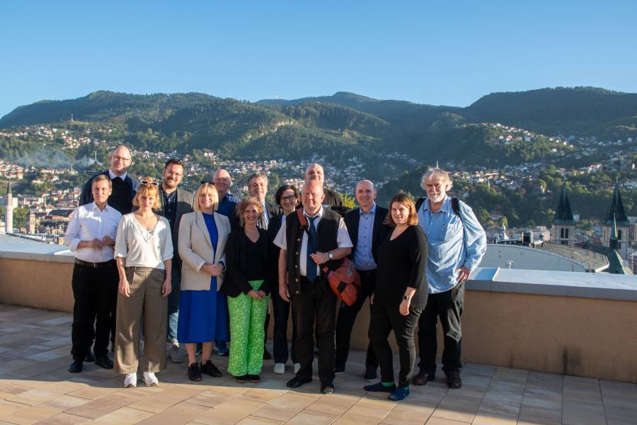
[{"label": "dark trousers of the bald man in blazer and blue shirt", "polygon": [[[374,293],[376,271],[359,271],[358,274],[360,275],[361,288],[356,302],[352,305],[341,302],[338,310],[338,319],[336,320],[336,370],[345,370],[345,363],[347,363],[350,354],[350,339],[356,315],[365,304],[367,297],[371,297],[372,293]],[[369,307],[371,311],[372,306],[370,305]],[[368,370],[376,370],[378,368],[378,360],[371,341],[367,344],[365,367]]]}]

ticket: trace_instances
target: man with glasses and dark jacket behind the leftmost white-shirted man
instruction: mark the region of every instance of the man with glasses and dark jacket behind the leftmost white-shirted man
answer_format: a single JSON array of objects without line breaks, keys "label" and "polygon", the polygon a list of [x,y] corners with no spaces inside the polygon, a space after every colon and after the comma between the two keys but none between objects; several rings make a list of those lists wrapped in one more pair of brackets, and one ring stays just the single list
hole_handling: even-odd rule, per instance
[{"label": "man with glasses and dark jacket behind the leftmost white-shirted man", "polygon": [[108,205],[115,208],[122,215],[132,211],[132,200],[139,189],[139,181],[128,174],[128,167],[132,163],[130,149],[124,145],[118,145],[109,155],[110,168],[102,171],[84,183],[82,193],[79,198],[79,205],[87,205],[93,202],[91,184],[93,179],[100,174],[110,177],[113,183],[113,194],[108,198]]}]

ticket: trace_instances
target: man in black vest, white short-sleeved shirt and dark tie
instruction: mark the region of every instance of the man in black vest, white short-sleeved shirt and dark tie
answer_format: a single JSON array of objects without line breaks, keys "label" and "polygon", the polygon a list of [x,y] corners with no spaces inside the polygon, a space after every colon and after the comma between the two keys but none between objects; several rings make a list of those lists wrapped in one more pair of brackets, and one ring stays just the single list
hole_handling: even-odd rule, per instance
[{"label": "man in black vest, white short-sleeved shirt and dark tie", "polygon": [[[311,180],[303,185],[301,212],[287,215],[275,239],[280,247],[279,295],[289,301],[297,319],[297,359],[299,372],[287,382],[297,388],[312,380],[314,361],[314,322],[319,346],[321,392],[334,392],[336,295],[327,282],[323,267],[335,270],[340,259],[352,252],[352,241],[343,218],[324,208],[323,184]],[[289,283],[289,285],[288,285]]]}]

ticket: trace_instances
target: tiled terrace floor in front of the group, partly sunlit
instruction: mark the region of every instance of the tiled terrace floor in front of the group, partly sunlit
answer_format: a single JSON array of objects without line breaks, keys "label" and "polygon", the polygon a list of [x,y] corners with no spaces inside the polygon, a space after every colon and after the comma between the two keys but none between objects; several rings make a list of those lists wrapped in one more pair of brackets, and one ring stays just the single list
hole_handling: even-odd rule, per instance
[{"label": "tiled terrace floor in front of the group, partly sunlit", "polygon": [[[441,375],[390,402],[362,390],[360,352],[333,395],[317,380],[287,390],[291,373],[273,374],[271,361],[260,385],[225,371],[193,384],[183,363],[158,375],[159,387],[123,388],[93,364],[67,372],[70,324],[66,313],[0,305],[0,424],[637,424],[637,385],[487,365],[466,365],[461,390]],[[226,358],[213,360],[225,369]]]}]

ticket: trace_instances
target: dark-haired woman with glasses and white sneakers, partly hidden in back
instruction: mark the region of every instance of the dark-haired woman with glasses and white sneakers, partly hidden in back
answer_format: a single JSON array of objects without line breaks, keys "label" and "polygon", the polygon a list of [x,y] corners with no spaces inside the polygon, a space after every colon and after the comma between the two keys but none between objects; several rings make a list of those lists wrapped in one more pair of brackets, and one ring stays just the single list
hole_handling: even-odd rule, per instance
[{"label": "dark-haired woman with glasses and white sneakers, partly hidden in back", "polygon": [[[268,225],[268,233],[270,234],[270,240],[272,244],[272,264],[277,264],[279,261],[279,251],[281,250],[273,242],[277,233],[285,220],[285,217],[296,210],[297,205],[301,205],[301,193],[299,190],[291,184],[284,184],[275,192],[275,201],[277,205],[281,207],[283,212],[270,220]],[[272,271],[272,282],[279,281],[279,271],[277,267],[274,267]],[[285,373],[285,363],[287,363],[287,319],[289,317],[290,302],[284,300],[279,291],[272,291],[272,310],[274,314],[274,330],[272,331],[272,346],[274,348],[274,373]],[[294,363],[294,373],[297,373],[301,368],[301,365],[297,361],[297,355],[295,353],[296,346],[296,321],[294,314],[292,314],[292,363]]]}]

